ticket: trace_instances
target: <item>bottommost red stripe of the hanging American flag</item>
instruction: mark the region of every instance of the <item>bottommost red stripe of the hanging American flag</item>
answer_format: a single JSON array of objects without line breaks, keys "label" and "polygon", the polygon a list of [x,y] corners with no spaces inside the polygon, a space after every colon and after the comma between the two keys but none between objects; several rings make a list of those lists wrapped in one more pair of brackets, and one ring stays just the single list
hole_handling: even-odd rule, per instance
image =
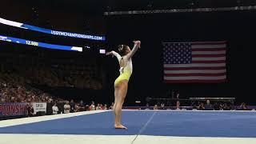
[{"label": "bottommost red stripe of the hanging American flag", "polygon": [[219,83],[226,82],[226,79],[218,80],[164,80],[166,83]]}]

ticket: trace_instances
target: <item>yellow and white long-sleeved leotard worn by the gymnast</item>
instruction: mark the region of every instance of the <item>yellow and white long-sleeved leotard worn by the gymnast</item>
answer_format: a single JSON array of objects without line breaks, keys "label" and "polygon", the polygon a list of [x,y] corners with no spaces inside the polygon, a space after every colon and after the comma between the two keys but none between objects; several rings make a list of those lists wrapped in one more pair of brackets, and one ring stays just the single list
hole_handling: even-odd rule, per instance
[{"label": "yellow and white long-sleeved leotard worn by the gymnast", "polygon": [[121,82],[122,80],[129,81],[130,75],[133,73],[133,62],[131,60],[131,57],[134,55],[134,53],[138,50],[137,46],[134,46],[133,50],[130,51],[129,54],[126,54],[125,56],[121,57],[118,53],[112,51],[112,54],[118,58],[118,62],[120,63],[121,59],[124,61],[124,66],[120,67],[119,77],[114,81],[114,86],[118,84],[118,82]]}]

